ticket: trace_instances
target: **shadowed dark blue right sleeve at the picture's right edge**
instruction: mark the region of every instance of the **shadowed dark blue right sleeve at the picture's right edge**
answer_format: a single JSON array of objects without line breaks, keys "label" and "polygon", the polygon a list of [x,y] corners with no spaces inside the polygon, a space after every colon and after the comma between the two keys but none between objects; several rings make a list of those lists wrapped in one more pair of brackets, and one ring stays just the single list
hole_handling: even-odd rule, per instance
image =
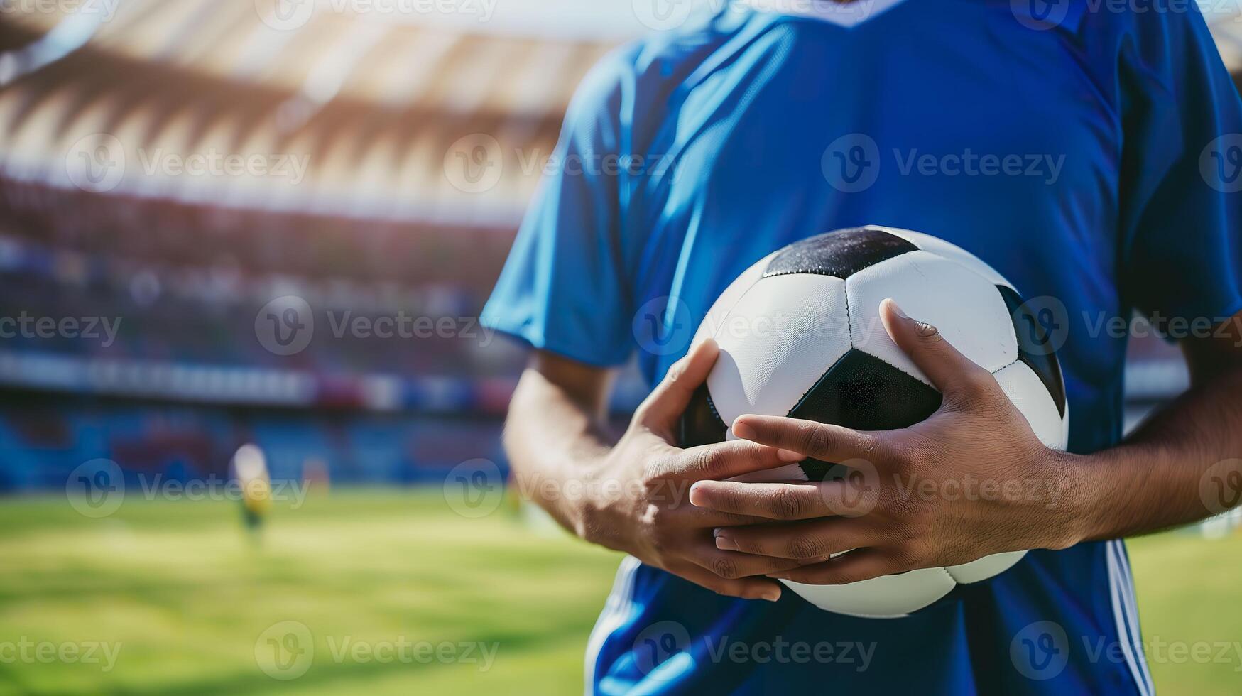
[{"label": "shadowed dark blue right sleeve at the picture's right edge", "polygon": [[1197,10],[1148,12],[1122,56],[1122,287],[1149,316],[1242,309],[1242,103]]}]

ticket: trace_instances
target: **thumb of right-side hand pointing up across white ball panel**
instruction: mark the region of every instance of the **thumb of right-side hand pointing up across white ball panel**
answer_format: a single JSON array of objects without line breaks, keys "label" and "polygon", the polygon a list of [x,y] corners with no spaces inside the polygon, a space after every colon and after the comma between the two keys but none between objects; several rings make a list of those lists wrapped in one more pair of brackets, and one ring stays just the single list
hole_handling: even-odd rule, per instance
[{"label": "thumb of right-side hand pointing up across white ball panel", "polygon": [[892,298],[879,303],[879,319],[897,347],[945,395],[977,392],[995,378],[963,355],[932,324],[912,319]]}]

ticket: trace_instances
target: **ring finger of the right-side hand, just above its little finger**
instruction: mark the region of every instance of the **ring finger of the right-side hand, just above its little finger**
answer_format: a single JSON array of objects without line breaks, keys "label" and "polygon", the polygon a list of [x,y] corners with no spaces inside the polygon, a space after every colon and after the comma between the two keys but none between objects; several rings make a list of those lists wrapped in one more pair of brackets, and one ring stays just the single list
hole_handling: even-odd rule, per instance
[{"label": "ring finger of the right-side hand, just above its little finger", "polygon": [[715,531],[715,547],[754,556],[790,558],[805,566],[833,553],[863,548],[883,539],[873,526],[858,520],[832,518],[791,524],[748,524]]}]

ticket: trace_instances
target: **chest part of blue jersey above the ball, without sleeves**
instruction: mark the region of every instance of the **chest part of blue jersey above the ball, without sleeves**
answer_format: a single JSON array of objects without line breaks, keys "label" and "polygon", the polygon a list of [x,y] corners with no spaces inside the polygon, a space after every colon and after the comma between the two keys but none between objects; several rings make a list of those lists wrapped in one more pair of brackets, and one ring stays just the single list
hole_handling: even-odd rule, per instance
[{"label": "chest part of blue jersey above the ball, without sleeves", "polygon": [[[1115,98],[1064,31],[1016,31],[1007,2],[930,5],[852,29],[751,19],[669,92],[622,219],[635,307],[683,302],[676,347],[782,245],[862,224],[933,234],[1052,298],[1071,410],[1094,414],[1072,445],[1098,449],[1124,357],[1099,323],[1122,311]],[[678,357],[657,353],[648,374]]]}]

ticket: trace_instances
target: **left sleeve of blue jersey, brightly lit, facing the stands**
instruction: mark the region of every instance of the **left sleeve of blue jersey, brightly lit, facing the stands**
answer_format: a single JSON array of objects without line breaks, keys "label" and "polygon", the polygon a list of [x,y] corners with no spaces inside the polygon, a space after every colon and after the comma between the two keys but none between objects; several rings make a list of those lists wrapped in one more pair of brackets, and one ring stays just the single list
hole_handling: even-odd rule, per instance
[{"label": "left sleeve of blue jersey, brightly lit, facing the stands", "polygon": [[615,52],[579,86],[556,149],[481,322],[535,348],[610,367],[632,347],[616,162],[633,63]]}]

